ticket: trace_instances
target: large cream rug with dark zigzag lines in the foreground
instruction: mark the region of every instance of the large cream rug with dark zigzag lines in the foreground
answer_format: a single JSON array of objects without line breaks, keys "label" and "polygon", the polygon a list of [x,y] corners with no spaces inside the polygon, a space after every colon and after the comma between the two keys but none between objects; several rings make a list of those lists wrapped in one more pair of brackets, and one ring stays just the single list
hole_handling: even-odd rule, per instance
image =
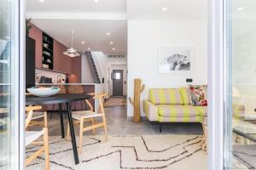
[{"label": "large cream rug with dark zigzag lines in the foreground", "polygon": [[[207,154],[201,150],[201,136],[110,136],[108,143],[102,136],[84,136],[83,144],[80,163],[74,165],[71,143],[61,137],[50,137],[50,169],[207,169]],[[26,156],[36,148],[30,145]],[[44,156],[26,169],[44,169]]]}]

